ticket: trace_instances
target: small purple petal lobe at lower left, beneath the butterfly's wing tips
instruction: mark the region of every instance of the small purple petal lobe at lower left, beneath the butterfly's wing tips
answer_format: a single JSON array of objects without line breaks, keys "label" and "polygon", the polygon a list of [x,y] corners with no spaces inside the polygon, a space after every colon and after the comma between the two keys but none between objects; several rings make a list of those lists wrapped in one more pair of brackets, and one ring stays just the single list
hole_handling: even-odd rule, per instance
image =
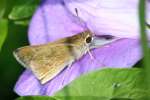
[{"label": "small purple petal lobe at lower left, beneath the butterfly's wing tips", "polygon": [[41,92],[42,85],[38,82],[31,71],[26,70],[19,78],[15,86],[15,92],[23,95],[38,95]]}]

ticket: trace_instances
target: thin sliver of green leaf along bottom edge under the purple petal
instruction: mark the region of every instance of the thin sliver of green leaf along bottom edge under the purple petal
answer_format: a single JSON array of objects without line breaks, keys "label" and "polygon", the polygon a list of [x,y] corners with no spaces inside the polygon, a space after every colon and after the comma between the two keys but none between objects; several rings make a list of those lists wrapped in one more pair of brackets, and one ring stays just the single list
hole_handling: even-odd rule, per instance
[{"label": "thin sliver of green leaf along bottom edge under the purple petal", "polygon": [[56,100],[56,99],[49,96],[24,96],[16,100]]}]

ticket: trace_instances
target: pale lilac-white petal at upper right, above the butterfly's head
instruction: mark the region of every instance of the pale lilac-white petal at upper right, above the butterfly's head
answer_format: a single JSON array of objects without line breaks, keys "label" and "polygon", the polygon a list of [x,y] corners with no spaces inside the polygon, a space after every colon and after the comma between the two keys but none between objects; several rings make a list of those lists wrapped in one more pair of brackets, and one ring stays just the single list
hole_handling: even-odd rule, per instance
[{"label": "pale lilac-white petal at upper right, above the butterfly's head", "polygon": [[[118,37],[139,38],[139,0],[65,0],[67,8],[79,16],[96,34],[107,34]],[[149,7],[149,3],[148,3]],[[147,9],[147,21],[150,10]],[[148,32],[150,38],[150,32]]]}]

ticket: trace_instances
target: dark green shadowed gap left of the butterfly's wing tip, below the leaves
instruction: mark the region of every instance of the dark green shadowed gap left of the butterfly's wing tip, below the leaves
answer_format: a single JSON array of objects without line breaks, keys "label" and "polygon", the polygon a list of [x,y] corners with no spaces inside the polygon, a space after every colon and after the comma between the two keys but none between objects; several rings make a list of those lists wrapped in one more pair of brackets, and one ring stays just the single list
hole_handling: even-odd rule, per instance
[{"label": "dark green shadowed gap left of the butterfly's wing tip, below the leaves", "polygon": [[13,100],[13,92],[23,67],[13,57],[13,50],[27,45],[27,27],[8,22],[8,34],[0,52],[0,97],[1,100]]}]

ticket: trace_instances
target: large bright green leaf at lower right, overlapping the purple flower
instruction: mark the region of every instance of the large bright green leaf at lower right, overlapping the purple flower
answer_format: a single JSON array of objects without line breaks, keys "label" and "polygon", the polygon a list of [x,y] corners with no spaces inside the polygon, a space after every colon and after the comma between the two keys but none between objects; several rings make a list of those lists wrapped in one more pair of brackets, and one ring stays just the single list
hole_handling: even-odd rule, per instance
[{"label": "large bright green leaf at lower right, overlapping the purple flower", "polygon": [[[83,75],[63,90],[56,93],[60,96],[95,96],[137,99],[148,96],[141,69],[103,69]],[[72,100],[70,98],[69,100]],[[65,100],[65,99],[63,99]],[[74,99],[73,99],[74,100]]]}]

